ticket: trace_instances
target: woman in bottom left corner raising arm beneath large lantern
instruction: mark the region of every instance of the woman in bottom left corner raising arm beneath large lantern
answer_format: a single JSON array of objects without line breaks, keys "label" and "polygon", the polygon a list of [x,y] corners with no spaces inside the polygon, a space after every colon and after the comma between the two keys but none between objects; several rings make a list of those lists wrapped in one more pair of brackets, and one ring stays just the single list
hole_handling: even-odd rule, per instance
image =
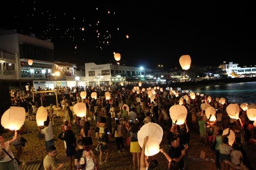
[{"label": "woman in bottom left corner raising arm beneath large lantern", "polygon": [[14,131],[14,138],[4,142],[3,136],[0,134],[0,169],[14,170],[14,164],[18,166],[14,155],[11,152],[10,145],[17,139],[17,130]]}]

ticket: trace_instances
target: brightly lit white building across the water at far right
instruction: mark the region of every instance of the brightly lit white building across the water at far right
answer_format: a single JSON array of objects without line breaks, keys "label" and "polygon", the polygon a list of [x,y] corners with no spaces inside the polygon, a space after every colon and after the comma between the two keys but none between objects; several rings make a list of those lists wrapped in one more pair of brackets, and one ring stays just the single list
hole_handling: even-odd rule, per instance
[{"label": "brightly lit white building across the water at far right", "polygon": [[223,65],[223,70],[227,72],[228,77],[255,77],[256,67],[238,67],[239,64],[229,62]]}]

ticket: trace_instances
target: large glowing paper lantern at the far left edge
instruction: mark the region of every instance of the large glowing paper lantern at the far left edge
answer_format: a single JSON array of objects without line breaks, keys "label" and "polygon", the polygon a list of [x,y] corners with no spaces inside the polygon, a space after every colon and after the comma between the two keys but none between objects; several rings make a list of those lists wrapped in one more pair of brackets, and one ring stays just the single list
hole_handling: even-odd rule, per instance
[{"label": "large glowing paper lantern at the far left edge", "polygon": [[1,118],[1,125],[10,130],[18,130],[23,125],[26,111],[23,107],[11,106],[4,112]]}]

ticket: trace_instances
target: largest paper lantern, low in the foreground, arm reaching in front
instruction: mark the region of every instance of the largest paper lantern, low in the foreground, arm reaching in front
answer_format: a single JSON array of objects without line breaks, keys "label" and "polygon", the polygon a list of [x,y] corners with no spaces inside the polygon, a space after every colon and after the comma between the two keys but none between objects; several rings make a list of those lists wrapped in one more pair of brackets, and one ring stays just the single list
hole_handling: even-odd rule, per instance
[{"label": "largest paper lantern, low in the foreground, arm reaching in front", "polygon": [[149,122],[141,127],[138,131],[138,142],[139,146],[142,148],[144,138],[148,136],[148,141],[146,142],[145,147],[146,156],[153,156],[160,151],[159,145],[162,141],[163,134],[162,127],[155,123]]}]

